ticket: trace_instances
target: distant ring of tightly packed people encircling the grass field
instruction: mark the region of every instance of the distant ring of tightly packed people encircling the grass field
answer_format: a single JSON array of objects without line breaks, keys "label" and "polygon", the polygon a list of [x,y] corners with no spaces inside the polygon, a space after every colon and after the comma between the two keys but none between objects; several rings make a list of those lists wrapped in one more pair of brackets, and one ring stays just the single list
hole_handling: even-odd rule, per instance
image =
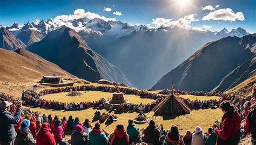
[{"label": "distant ring of tightly packed people encircling the grass field", "polygon": [[[149,112],[152,110],[154,106],[156,106],[161,100],[165,98],[164,95],[158,95],[156,93],[151,93],[143,90],[138,89],[131,89],[131,88],[117,88],[111,86],[93,86],[93,85],[84,85],[84,86],[70,86],[65,88],[58,88],[58,89],[47,89],[43,90],[39,93],[33,90],[26,90],[23,92],[22,100],[27,105],[32,106],[41,106],[44,108],[53,108],[55,110],[83,110],[88,107],[104,107],[105,99],[101,98],[98,101],[93,102],[80,102],[80,103],[65,103],[65,102],[56,102],[42,99],[41,97],[44,95],[52,94],[52,93],[59,93],[59,92],[78,92],[78,91],[104,91],[104,92],[115,92],[121,91],[127,95],[136,95],[141,98],[150,98],[153,99],[154,102],[148,104],[120,104],[119,106],[113,106],[111,110],[118,110],[118,111],[134,111],[134,112]],[[179,96],[179,92],[176,91],[176,95]],[[188,105],[191,109],[199,109],[199,108],[210,108],[213,106],[218,106],[220,100],[190,100],[186,98],[181,98],[183,102]]]}]

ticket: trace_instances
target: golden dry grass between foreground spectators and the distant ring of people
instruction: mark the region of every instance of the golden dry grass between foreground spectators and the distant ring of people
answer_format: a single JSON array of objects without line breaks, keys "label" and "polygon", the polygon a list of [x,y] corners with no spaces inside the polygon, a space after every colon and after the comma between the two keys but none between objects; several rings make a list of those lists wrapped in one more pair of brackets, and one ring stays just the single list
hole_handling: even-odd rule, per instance
[{"label": "golden dry grass between foreground spectators and the distant ring of people", "polygon": [[[72,115],[73,117],[78,117],[81,122],[83,122],[86,118],[92,121],[92,116],[96,110],[93,108],[88,108],[87,110],[80,110],[80,111],[55,111],[55,110],[45,110],[44,108],[31,108],[33,111],[39,111],[45,114],[54,114],[58,115],[59,117],[69,117]],[[106,112],[105,109],[100,110],[100,112]],[[107,132],[113,132],[114,127],[118,124],[123,124],[124,126],[127,125],[127,121],[129,119],[133,119],[138,115],[138,113],[121,113],[117,114],[118,121],[113,122],[112,124],[106,124],[106,121],[101,124],[101,127],[106,129]],[[170,129],[171,125],[176,124],[178,125],[180,133],[185,134],[187,130],[193,131],[196,126],[200,126],[203,128],[203,131],[206,132],[208,127],[213,124],[215,120],[220,120],[223,113],[218,108],[216,110],[207,109],[207,110],[193,110],[191,114],[181,115],[174,119],[164,120],[163,117],[157,116],[153,117],[153,112],[147,114],[147,117],[150,119],[154,119],[156,124],[160,125],[163,124],[165,129]],[[93,126],[97,121],[92,122]],[[147,126],[147,124],[143,125],[136,125],[140,129]]]}]

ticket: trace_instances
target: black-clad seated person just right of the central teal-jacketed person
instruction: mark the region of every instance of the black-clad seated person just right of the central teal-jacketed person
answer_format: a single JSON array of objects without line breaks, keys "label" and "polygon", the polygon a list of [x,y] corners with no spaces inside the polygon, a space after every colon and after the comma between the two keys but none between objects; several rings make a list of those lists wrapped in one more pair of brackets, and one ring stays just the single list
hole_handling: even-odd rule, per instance
[{"label": "black-clad seated person just right of the central teal-jacketed person", "polygon": [[149,122],[149,126],[147,126],[144,131],[144,142],[146,143],[153,143],[156,145],[161,144],[159,138],[161,136],[160,129],[156,126],[153,120]]}]

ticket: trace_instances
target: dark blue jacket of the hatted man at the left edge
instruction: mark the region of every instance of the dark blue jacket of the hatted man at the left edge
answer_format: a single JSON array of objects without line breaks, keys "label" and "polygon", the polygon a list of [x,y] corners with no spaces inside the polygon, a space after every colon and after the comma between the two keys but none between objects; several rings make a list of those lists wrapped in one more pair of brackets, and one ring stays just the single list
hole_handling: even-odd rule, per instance
[{"label": "dark blue jacket of the hatted man at the left edge", "polygon": [[14,124],[18,124],[19,118],[21,118],[22,111],[17,109],[14,116],[10,112],[2,110],[0,108],[0,140],[3,142],[10,142],[15,139],[17,133],[14,129]]}]

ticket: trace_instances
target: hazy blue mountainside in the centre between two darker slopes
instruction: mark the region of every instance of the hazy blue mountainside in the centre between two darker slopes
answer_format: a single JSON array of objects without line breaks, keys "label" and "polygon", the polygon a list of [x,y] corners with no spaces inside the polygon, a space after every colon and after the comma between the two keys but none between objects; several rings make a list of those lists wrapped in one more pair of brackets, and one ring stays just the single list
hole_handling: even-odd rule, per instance
[{"label": "hazy blue mountainside in the centre between two darker slopes", "polygon": [[81,35],[93,50],[118,66],[132,84],[142,89],[151,88],[161,76],[207,42],[221,38],[212,32],[171,27],[134,31],[117,39]]}]

